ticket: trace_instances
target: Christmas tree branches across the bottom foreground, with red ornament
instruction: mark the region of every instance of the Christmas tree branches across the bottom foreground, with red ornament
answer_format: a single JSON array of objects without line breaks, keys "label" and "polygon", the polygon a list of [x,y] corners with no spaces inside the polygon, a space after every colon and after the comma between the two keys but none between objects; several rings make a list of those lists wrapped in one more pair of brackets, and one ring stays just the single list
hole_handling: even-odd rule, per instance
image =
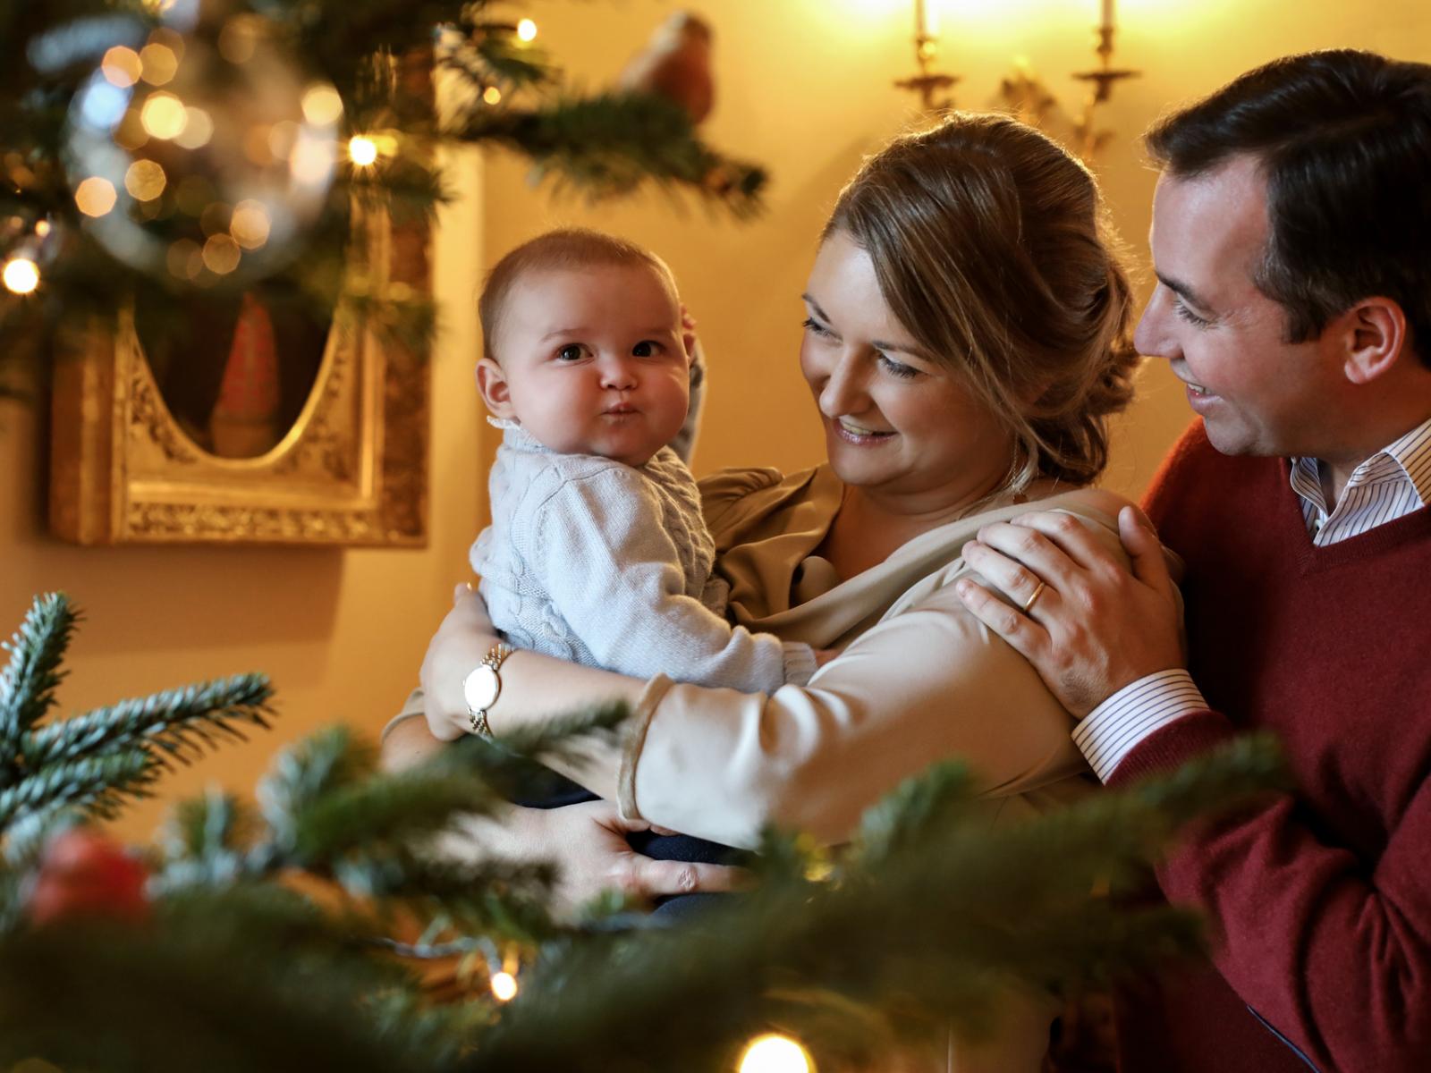
[{"label": "Christmas tree branches across the bottom foreground, with red ornament", "polygon": [[76,618],[63,597],[37,599],[0,677],[6,1063],[714,1072],[771,1032],[826,1069],[870,1063],[950,1027],[987,1033],[1005,994],[1072,993],[1196,949],[1195,916],[1118,896],[1181,824],[1278,771],[1265,743],[1242,743],[990,828],[967,773],[940,764],[840,851],[768,833],[757,887],[694,926],[651,927],[618,900],[558,921],[548,867],[454,861],[434,840],[501,808],[524,757],[610,733],[620,710],[472,738],[396,775],[323,731],[275,760],[256,810],[186,803],[140,858],[70,824],[146,793],[166,758],[262,725],[268,687],[47,720]]}]

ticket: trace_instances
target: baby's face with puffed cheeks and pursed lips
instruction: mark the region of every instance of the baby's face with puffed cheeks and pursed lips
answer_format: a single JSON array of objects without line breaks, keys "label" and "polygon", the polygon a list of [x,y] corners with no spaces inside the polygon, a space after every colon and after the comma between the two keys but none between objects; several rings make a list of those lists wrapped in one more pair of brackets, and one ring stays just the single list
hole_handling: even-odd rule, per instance
[{"label": "baby's face with puffed cheeks and pursed lips", "polygon": [[492,349],[507,391],[484,388],[488,406],[552,451],[643,465],[685,422],[680,305],[655,269],[534,272],[507,296]]}]

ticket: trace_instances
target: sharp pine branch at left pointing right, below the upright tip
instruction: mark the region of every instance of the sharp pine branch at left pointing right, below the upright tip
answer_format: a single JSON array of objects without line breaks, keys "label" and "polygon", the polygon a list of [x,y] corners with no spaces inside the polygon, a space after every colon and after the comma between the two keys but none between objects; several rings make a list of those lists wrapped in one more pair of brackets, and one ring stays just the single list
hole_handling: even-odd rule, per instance
[{"label": "sharp pine branch at left pointing right, below the upright tip", "polygon": [[273,688],[240,674],[137,697],[52,722],[21,738],[29,771],[117,748],[143,748],[189,764],[220,738],[246,741],[240,724],[268,728]]}]

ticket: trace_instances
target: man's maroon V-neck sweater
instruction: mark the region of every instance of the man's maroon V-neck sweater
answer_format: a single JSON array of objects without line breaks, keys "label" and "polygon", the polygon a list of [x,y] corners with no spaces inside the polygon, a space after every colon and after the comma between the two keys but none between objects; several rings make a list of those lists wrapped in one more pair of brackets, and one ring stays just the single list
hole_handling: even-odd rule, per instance
[{"label": "man's maroon V-neck sweater", "polygon": [[1148,511],[1188,564],[1191,671],[1213,711],[1148,737],[1110,784],[1259,727],[1298,790],[1193,834],[1159,870],[1169,900],[1219,923],[1218,973],[1130,1003],[1123,1069],[1425,1073],[1431,511],[1315,548],[1288,464],[1219,455],[1202,422]]}]

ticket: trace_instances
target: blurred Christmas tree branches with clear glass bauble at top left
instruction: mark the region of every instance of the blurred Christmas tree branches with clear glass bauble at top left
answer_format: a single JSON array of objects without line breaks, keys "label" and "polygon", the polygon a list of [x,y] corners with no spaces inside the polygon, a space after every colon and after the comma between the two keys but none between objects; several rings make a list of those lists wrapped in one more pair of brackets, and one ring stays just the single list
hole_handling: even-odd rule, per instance
[{"label": "blurred Christmas tree branches with clear glass bauble at top left", "polygon": [[245,292],[422,352],[431,302],[368,292],[352,270],[352,217],[431,217],[446,197],[444,146],[515,152],[535,180],[590,197],[650,185],[737,217],[758,210],[764,172],[707,146],[690,102],[660,80],[574,93],[514,10],[0,0],[11,60],[0,70],[0,392],[52,356],[66,325],[133,309],[162,351],[180,330],[176,299]]}]

